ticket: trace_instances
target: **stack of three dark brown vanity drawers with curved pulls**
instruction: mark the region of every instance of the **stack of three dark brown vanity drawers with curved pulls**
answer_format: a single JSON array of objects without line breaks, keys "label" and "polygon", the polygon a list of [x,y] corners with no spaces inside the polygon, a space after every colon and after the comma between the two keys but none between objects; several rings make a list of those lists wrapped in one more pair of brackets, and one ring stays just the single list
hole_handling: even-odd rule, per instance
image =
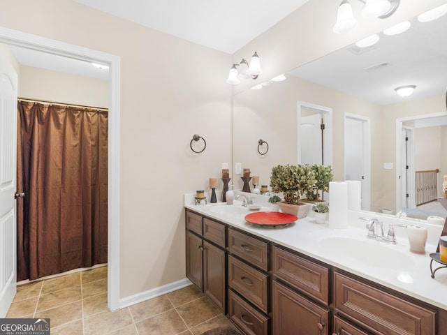
[{"label": "stack of three dark brown vanity drawers with curved pulls", "polygon": [[247,335],[268,335],[270,244],[228,229],[228,318]]}]

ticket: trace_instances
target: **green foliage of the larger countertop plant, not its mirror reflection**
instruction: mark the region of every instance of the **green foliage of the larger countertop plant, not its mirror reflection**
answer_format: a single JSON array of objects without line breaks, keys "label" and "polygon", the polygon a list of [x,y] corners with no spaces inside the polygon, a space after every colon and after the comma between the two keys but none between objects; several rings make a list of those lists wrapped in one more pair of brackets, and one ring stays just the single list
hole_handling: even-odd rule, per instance
[{"label": "green foliage of the larger countertop plant, not its mirror reflection", "polygon": [[311,165],[277,165],[272,168],[270,187],[284,194],[284,202],[298,204],[300,198],[314,190],[315,174]]}]

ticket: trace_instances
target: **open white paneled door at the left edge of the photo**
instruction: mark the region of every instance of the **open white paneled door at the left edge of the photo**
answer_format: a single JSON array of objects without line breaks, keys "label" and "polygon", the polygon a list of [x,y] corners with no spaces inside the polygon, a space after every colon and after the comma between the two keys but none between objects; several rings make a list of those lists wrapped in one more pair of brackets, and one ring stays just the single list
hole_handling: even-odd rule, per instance
[{"label": "open white paneled door at the left edge of the photo", "polygon": [[17,290],[17,73],[0,52],[0,318]]}]

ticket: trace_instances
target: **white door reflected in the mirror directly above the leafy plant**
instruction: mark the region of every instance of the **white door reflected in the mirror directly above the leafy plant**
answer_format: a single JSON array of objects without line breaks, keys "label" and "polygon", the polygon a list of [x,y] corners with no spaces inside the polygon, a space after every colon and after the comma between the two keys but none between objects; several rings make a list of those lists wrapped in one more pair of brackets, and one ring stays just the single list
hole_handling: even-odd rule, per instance
[{"label": "white door reflected in the mirror directly above the leafy plant", "polygon": [[323,140],[321,136],[321,114],[301,117],[301,138],[306,139],[301,146],[301,164],[323,164]]}]

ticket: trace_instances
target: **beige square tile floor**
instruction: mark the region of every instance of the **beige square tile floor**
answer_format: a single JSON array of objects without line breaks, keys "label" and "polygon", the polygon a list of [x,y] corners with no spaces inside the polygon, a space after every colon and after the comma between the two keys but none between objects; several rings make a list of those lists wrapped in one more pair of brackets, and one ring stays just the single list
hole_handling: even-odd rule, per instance
[{"label": "beige square tile floor", "polygon": [[108,311],[107,267],[17,286],[7,318],[50,318],[52,335],[200,335],[233,327],[193,285]]}]

